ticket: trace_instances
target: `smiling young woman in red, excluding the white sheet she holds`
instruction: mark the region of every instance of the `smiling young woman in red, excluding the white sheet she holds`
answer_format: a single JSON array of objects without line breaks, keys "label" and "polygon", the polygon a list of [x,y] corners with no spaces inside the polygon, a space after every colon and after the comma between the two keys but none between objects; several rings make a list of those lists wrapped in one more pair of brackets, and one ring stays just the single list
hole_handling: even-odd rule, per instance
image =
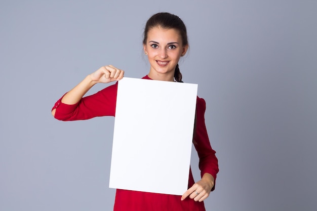
[{"label": "smiling young woman in red, excluding the white sheet she holds", "polygon": [[[144,29],[143,50],[151,67],[143,79],[182,82],[178,61],[186,54],[187,49],[186,27],[178,16],[157,13],[150,17]],[[99,68],[55,103],[52,108],[53,116],[64,121],[114,116],[117,83],[94,95],[83,96],[96,83],[117,81],[123,76],[124,71],[112,65]],[[114,202],[115,211],[205,210],[203,201],[214,190],[219,171],[216,152],[210,146],[206,130],[205,110],[205,100],[197,97],[193,144],[200,158],[202,179],[195,183],[189,171],[188,190],[182,196],[118,189]]]}]

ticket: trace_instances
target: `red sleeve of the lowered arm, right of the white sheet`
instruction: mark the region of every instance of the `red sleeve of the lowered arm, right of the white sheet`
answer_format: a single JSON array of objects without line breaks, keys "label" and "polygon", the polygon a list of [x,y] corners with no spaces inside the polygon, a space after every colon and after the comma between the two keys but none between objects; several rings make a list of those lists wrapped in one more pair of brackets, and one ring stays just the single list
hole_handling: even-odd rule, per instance
[{"label": "red sleeve of the lowered arm, right of the white sheet", "polygon": [[[205,173],[209,173],[216,180],[217,173],[219,172],[218,159],[215,155],[216,151],[212,149],[208,138],[205,124],[205,111],[205,100],[203,98],[197,97],[193,144],[197,150],[200,159],[199,168],[201,170],[201,176],[203,177]],[[212,190],[214,189],[215,186]]]}]

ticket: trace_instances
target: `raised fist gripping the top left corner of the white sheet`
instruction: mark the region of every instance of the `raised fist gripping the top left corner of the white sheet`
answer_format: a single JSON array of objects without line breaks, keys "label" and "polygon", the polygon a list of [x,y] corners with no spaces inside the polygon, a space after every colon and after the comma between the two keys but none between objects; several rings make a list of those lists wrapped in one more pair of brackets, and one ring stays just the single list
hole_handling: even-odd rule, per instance
[{"label": "raised fist gripping the top left corner of the white sheet", "polygon": [[92,81],[97,83],[108,83],[123,78],[125,71],[118,69],[112,65],[102,66],[89,76]]}]

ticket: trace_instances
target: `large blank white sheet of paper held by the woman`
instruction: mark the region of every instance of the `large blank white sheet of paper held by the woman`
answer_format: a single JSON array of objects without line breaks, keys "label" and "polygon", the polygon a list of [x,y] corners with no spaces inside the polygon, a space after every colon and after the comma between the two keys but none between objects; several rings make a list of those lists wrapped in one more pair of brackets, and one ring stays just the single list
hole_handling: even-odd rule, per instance
[{"label": "large blank white sheet of paper held by the woman", "polygon": [[109,187],[182,195],[188,186],[197,85],[118,81]]}]

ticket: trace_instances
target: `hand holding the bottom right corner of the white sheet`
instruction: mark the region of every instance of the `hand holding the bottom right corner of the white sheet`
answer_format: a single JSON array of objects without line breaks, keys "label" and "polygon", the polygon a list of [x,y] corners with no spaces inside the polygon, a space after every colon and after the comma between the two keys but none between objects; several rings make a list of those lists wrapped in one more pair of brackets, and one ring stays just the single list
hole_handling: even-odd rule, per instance
[{"label": "hand holding the bottom right corner of the white sheet", "polygon": [[194,201],[204,201],[209,196],[214,184],[214,177],[211,174],[205,173],[200,181],[193,184],[193,186],[182,195],[181,200],[189,196],[189,198],[194,199]]}]

